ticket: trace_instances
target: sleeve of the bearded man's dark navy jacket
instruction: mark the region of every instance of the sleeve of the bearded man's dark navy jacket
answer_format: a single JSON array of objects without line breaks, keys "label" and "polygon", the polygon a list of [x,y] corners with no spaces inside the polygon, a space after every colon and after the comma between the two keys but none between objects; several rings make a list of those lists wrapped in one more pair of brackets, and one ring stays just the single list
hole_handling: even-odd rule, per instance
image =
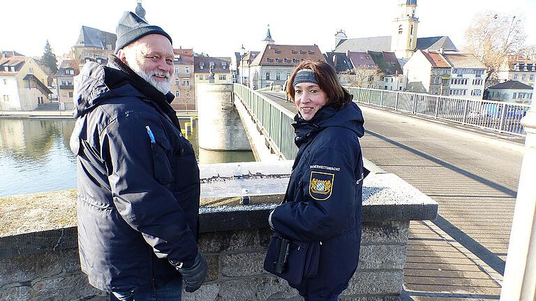
[{"label": "sleeve of the bearded man's dark navy jacket", "polygon": [[142,233],[158,258],[174,258],[187,266],[198,252],[197,242],[184,210],[155,177],[153,148],[158,145],[151,144],[147,125],[155,136],[165,137],[158,118],[136,113],[119,117],[101,133],[101,155],[114,205],[125,222]]}]

